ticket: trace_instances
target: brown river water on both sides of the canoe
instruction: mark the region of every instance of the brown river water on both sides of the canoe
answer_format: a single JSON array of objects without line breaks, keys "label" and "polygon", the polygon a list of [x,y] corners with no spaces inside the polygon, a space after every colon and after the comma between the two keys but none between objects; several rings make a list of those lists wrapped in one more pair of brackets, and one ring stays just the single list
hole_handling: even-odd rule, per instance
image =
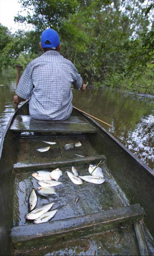
[{"label": "brown river water on both sides of the canoe", "polygon": [[[5,127],[14,112],[12,102],[16,79],[0,76],[0,142]],[[136,98],[111,89],[73,90],[73,104],[102,121],[108,132],[153,169],[154,103],[152,98]],[[114,152],[113,152],[114,157]]]}]

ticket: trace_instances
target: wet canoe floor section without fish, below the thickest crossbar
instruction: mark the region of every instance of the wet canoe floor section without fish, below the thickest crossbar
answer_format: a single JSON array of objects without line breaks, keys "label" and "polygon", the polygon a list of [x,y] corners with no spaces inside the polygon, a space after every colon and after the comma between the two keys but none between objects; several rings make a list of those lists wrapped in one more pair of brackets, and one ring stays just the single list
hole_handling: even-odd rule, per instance
[{"label": "wet canoe floor section without fish, below the thickest crossbar", "polygon": [[101,234],[51,244],[51,246],[14,255],[139,255],[132,227],[117,228]]}]

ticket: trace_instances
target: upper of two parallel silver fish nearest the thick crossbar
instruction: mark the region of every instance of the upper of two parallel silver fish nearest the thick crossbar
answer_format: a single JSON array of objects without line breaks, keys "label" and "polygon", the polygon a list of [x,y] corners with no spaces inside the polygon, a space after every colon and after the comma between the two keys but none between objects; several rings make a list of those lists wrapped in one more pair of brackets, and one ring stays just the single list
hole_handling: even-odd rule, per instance
[{"label": "upper of two parallel silver fish nearest the thick crossbar", "polygon": [[51,207],[53,206],[54,203],[50,203],[50,204],[45,204],[39,208],[36,208],[35,210],[33,210],[32,212],[29,212],[26,216],[25,219],[27,220],[35,220],[37,218],[39,218],[43,213],[48,212]]}]

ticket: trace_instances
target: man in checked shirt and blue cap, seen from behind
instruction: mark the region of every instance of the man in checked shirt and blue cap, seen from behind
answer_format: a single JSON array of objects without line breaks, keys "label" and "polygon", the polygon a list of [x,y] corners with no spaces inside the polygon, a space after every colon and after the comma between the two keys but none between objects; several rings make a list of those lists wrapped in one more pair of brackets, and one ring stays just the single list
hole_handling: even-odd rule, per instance
[{"label": "man in checked shirt and blue cap, seen from behind", "polygon": [[13,101],[17,105],[29,101],[30,116],[40,120],[66,120],[72,112],[72,91],[86,90],[74,64],[60,55],[58,33],[49,28],[41,35],[40,49],[44,52],[25,68]]}]

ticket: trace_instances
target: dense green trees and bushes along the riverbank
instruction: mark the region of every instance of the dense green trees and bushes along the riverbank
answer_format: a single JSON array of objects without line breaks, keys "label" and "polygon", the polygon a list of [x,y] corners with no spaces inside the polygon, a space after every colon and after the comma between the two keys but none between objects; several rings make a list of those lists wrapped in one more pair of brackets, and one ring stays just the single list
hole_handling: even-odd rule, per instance
[{"label": "dense green trees and bushes along the riverbank", "polygon": [[16,22],[31,31],[10,31],[0,25],[1,70],[14,74],[41,55],[41,32],[58,31],[61,54],[71,60],[88,85],[153,94],[153,1],[20,0],[27,16]]}]

